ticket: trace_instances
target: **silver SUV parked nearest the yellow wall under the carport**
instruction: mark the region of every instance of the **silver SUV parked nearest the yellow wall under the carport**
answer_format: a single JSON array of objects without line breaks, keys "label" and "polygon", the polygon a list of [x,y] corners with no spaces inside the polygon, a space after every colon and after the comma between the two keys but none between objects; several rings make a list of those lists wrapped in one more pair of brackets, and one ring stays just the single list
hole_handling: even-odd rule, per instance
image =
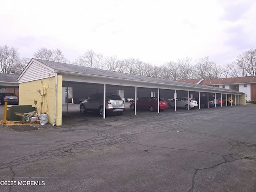
[{"label": "silver SUV parked nearest the yellow wall under the carport", "polygon": [[[106,94],[106,113],[122,115],[124,109],[124,101],[119,95]],[[80,112],[86,113],[87,111],[94,111],[103,116],[103,93],[93,94],[80,104]]]}]

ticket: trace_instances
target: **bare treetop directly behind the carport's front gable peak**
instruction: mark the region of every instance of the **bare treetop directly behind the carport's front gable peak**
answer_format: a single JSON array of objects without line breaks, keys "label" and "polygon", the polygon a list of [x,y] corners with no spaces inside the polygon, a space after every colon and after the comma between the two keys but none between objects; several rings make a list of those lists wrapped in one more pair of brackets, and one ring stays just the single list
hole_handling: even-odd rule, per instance
[{"label": "bare treetop directly behind the carport's front gable peak", "polygon": [[61,62],[66,63],[68,60],[62,53],[62,51],[58,48],[56,49],[47,49],[47,48],[40,48],[37,52],[34,53],[34,57],[42,60],[47,61],[54,61],[54,62]]}]

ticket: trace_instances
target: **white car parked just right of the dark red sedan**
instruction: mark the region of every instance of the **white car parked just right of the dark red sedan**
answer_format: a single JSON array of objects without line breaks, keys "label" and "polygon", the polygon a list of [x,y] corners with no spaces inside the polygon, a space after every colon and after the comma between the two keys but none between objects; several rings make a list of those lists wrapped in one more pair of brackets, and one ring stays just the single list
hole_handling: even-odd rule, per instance
[{"label": "white car parked just right of the dark red sedan", "polygon": [[[195,109],[198,104],[195,98],[189,98],[190,109]],[[175,99],[168,101],[168,108],[175,107]],[[176,98],[176,107],[188,109],[188,97]]]}]

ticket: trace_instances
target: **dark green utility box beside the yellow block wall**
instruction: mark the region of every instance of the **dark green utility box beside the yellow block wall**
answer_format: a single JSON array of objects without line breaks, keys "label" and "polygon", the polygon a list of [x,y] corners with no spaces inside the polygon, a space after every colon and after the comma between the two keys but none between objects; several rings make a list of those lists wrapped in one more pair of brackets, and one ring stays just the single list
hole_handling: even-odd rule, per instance
[{"label": "dark green utility box beside the yellow block wall", "polygon": [[8,121],[20,120],[20,116],[16,115],[14,112],[28,113],[28,112],[32,112],[35,110],[36,110],[36,108],[32,107],[32,105],[8,105],[6,120],[8,120]]}]

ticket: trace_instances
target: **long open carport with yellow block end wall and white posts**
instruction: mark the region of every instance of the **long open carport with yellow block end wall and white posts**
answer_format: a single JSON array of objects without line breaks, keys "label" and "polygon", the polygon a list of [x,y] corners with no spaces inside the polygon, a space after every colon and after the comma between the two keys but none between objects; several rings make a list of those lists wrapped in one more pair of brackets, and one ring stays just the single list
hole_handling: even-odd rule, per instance
[{"label": "long open carport with yellow block end wall and white posts", "polygon": [[[91,93],[106,93],[106,91],[122,93],[123,90],[124,95],[127,92],[129,97],[134,93],[135,102],[138,96],[147,94],[147,92],[155,95],[158,100],[163,97],[167,99],[169,95],[170,97],[176,97],[179,92],[186,94],[188,97],[190,97],[191,93],[198,92],[200,95],[200,92],[213,92],[214,94],[236,95],[238,96],[238,104],[245,104],[244,93],[234,90],[124,74],[39,59],[32,59],[30,61],[18,77],[18,82],[20,87],[19,104],[32,105],[40,108],[41,112],[48,114],[49,122],[57,126],[62,124],[63,87],[85,87],[84,91],[88,96]],[[135,109],[135,115],[136,112]],[[103,118],[105,117],[104,113]]]}]

